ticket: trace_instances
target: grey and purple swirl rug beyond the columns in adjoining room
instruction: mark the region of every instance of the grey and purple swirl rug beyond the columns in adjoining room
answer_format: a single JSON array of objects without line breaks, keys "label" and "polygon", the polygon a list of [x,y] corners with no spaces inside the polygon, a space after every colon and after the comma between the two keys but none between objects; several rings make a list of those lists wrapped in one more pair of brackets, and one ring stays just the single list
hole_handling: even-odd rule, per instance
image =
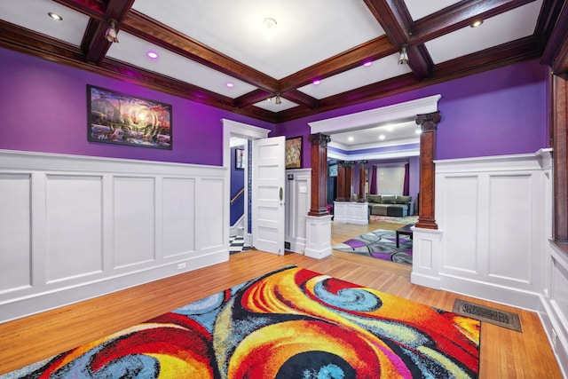
[{"label": "grey and purple swirl rug beyond the columns in adjoining room", "polygon": [[339,243],[332,249],[412,265],[412,240],[406,235],[400,235],[398,242],[397,248],[395,231],[377,229]]}]

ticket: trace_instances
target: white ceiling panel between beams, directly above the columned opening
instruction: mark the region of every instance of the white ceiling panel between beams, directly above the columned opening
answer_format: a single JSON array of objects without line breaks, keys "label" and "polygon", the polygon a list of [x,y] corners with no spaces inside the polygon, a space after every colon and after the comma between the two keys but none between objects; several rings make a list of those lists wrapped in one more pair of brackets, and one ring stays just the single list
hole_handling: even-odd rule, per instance
[{"label": "white ceiling panel between beams, directly above the columned opening", "polygon": [[398,53],[378,59],[369,67],[352,68],[342,74],[323,79],[318,85],[308,84],[298,88],[316,99],[324,99],[344,91],[363,87],[367,84],[381,82],[411,72],[408,65],[398,65]]}]

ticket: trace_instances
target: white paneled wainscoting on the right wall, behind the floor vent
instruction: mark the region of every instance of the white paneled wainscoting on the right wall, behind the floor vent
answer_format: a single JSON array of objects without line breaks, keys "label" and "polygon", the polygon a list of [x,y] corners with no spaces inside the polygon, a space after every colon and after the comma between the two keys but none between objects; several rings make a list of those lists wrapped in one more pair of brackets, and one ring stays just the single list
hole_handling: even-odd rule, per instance
[{"label": "white paneled wainscoting on the right wall, behind the floor vent", "polygon": [[[440,243],[429,250],[414,241],[417,263],[435,265],[413,265],[413,282],[539,311],[550,159],[541,151],[436,161],[438,235],[430,240]],[[416,231],[428,240],[428,230]]]}]

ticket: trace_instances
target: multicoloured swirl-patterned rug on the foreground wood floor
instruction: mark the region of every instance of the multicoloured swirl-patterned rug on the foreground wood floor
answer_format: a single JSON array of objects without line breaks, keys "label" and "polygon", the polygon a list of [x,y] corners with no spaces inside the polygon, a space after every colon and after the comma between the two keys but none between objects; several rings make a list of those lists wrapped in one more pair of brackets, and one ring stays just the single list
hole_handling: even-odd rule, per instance
[{"label": "multicoloured swirl-patterned rug on the foreground wood floor", "polygon": [[477,378],[479,321],[288,266],[2,378]]}]

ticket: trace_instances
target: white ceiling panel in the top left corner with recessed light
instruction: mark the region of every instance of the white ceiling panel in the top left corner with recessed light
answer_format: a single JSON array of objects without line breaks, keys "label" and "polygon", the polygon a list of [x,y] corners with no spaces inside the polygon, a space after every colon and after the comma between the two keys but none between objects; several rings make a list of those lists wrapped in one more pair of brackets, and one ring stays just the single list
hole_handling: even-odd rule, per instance
[{"label": "white ceiling panel in the top left corner with recessed light", "polygon": [[[14,6],[17,3],[18,6]],[[22,12],[25,11],[25,12]],[[63,17],[56,21],[47,15],[54,12]],[[89,17],[50,0],[20,0],[0,2],[0,20],[61,41],[80,46]]]}]

